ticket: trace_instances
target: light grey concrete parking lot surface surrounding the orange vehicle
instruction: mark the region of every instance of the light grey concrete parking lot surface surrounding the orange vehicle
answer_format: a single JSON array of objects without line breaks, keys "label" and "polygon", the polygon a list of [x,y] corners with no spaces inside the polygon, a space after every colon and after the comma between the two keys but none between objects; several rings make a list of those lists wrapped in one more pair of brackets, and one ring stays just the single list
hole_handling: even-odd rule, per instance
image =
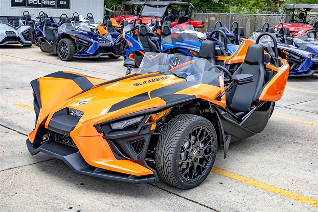
[{"label": "light grey concrete parking lot surface surrounding the orange vehicle", "polygon": [[[0,211],[318,211],[318,74],[290,78],[265,130],[230,144],[197,188],[75,174],[25,140],[34,128],[30,81],[56,71],[113,79],[123,59],[61,61],[32,46],[0,49]],[[136,71],[136,70],[135,70]]]}]

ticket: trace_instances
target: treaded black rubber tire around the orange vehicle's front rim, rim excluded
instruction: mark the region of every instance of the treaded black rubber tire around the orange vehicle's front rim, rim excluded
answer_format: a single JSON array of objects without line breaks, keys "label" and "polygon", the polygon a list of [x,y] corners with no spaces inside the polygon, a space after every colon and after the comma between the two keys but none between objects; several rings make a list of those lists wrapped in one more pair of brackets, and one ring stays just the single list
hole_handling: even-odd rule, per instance
[{"label": "treaded black rubber tire around the orange vehicle's front rim, rim excluded", "polygon": [[[201,177],[194,182],[186,181],[180,173],[180,151],[185,138],[197,127],[210,131],[212,155]],[[159,177],[174,187],[191,189],[200,185],[209,175],[217,152],[217,136],[213,125],[204,117],[192,114],[181,114],[165,124],[156,146],[155,163]],[[190,165],[190,164],[189,164]]]}]

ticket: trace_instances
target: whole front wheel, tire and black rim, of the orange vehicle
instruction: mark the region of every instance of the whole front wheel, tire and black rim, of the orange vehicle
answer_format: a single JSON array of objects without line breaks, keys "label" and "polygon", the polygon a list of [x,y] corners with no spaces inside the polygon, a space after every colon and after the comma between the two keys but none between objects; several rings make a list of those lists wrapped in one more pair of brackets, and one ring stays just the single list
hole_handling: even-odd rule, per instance
[{"label": "whole front wheel, tire and black rim, of the orange vehicle", "polygon": [[209,175],[217,152],[217,136],[205,118],[181,114],[164,127],[156,146],[159,177],[174,187],[191,189]]}]

